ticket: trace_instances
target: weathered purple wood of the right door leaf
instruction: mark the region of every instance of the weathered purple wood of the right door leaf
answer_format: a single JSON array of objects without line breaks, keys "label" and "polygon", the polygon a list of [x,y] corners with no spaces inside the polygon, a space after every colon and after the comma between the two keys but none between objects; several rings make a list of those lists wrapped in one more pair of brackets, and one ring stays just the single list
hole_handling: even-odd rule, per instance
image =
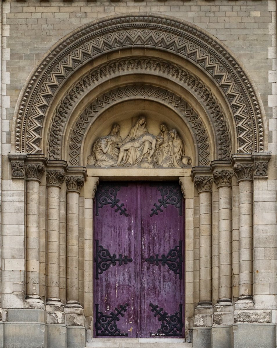
[{"label": "weathered purple wood of the right door leaf", "polygon": [[[141,187],[141,202],[145,202],[141,205],[141,337],[163,336],[166,332],[174,335],[169,326],[160,330],[161,316],[154,316],[156,311],[152,311],[150,303],[158,306],[157,309],[163,308],[161,313],[167,312],[168,315],[179,311],[179,303],[183,303],[183,280],[168,267],[168,264],[174,266],[169,260],[172,259],[172,253],[177,252],[172,251],[166,258],[176,246],[178,250],[179,240],[183,240],[183,215],[179,215],[180,210],[175,205],[167,204],[167,207],[161,208],[162,211],[150,216],[152,209],[155,209],[154,204],[160,205],[161,190],[165,190],[165,193],[169,191],[166,185],[145,184]],[[182,200],[180,204],[182,205]],[[168,264],[163,261],[146,261],[151,256],[162,260],[162,255],[165,256],[164,261],[168,260]],[[177,259],[177,263],[179,261],[182,265],[182,250],[181,260]],[[182,274],[182,270],[180,271]],[[182,330],[176,333],[182,337]]]}]

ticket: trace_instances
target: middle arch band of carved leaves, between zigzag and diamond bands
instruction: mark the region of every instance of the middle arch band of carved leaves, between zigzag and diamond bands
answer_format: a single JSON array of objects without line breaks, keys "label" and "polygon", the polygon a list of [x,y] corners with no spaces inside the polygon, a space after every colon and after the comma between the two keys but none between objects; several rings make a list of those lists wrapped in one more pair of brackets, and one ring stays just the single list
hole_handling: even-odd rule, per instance
[{"label": "middle arch band of carved leaves, between zigzag and diamond bands", "polygon": [[[217,100],[215,96],[211,93],[210,89],[203,84],[202,81],[200,81],[197,77],[195,77],[193,74],[188,72],[187,70],[183,69],[180,66],[172,65],[170,62],[162,61],[153,59],[151,57],[146,58],[132,58],[132,57],[125,57],[124,59],[112,61],[109,64],[105,64],[100,66],[97,70],[94,70],[90,72],[88,75],[83,77],[80,81],[78,81],[73,88],[69,90],[67,95],[63,98],[61,104],[57,108],[57,112],[53,118],[53,122],[51,125],[51,131],[49,132],[48,136],[48,153],[49,157],[51,159],[59,159],[61,156],[61,141],[62,141],[62,134],[64,127],[66,125],[67,119],[70,116],[70,112],[73,108],[73,105],[76,104],[76,101],[80,96],[84,95],[91,86],[93,85],[99,85],[100,80],[103,78],[111,78],[115,74],[122,74],[122,73],[141,73],[141,72],[151,72],[155,74],[164,74],[166,75],[166,78],[168,79],[175,79],[179,82],[182,82],[182,84],[187,85],[188,88],[190,88],[195,94],[198,95],[198,97],[202,100],[202,102],[206,105],[206,108],[209,110],[211,115],[211,121],[214,121],[215,126],[215,132],[216,132],[216,138],[217,138],[217,148],[218,148],[218,156],[217,159],[229,159],[230,158],[230,151],[231,151],[231,145],[230,145],[230,134],[229,134],[229,127],[226,123],[226,118],[222,112],[221,106],[218,105]],[[117,95],[118,96],[118,95]],[[119,95],[120,97],[121,94]],[[126,95],[124,95],[126,97]],[[154,96],[155,97],[155,96]],[[101,103],[108,104],[105,99],[106,96],[102,96]],[[180,106],[177,102],[178,98],[176,99],[176,102],[174,103],[174,107],[180,111]],[[109,102],[115,101],[109,100]],[[100,104],[100,107],[104,107],[104,105]],[[172,103],[171,103],[172,104]],[[99,110],[99,105],[97,106],[97,109]],[[96,110],[92,110],[94,113]],[[91,115],[89,115],[91,116]],[[93,115],[93,117],[96,116]],[[81,128],[83,125],[83,119],[80,120]],[[197,132],[198,129],[193,128],[194,132]],[[77,126],[77,130],[75,127],[75,132],[79,133],[80,129]],[[82,132],[84,133],[84,129],[82,129]],[[202,142],[205,141],[205,139],[201,139]],[[79,142],[82,141],[82,138],[79,139]],[[79,144],[80,145],[80,144]],[[203,143],[198,144],[199,151],[203,148],[205,148],[205,145]],[[79,151],[80,146],[77,148],[74,144],[71,148],[71,151],[73,153],[73,157],[76,158],[75,152]],[[71,154],[71,153],[70,153]],[[78,154],[79,155],[79,154]],[[204,156],[205,158],[205,156]],[[74,160],[75,162],[76,160]],[[205,160],[204,160],[205,161]],[[78,165],[79,161],[76,162],[75,165]],[[204,164],[205,165],[205,164]],[[207,164],[206,164],[207,165]]]}]

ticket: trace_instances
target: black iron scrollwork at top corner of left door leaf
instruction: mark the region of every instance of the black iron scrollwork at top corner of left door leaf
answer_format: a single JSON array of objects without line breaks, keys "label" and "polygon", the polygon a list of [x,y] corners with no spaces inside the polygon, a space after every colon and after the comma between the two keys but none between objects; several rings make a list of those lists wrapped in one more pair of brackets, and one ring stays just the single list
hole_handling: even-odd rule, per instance
[{"label": "black iron scrollwork at top corner of left door leaf", "polygon": [[[110,204],[111,208],[115,208],[115,212],[119,212],[120,215],[126,213],[126,208],[123,208],[124,203],[120,203],[120,200],[116,198],[117,192],[120,191],[120,188],[123,185],[113,186],[113,185],[99,185],[96,191],[96,212],[95,215],[99,215],[99,208],[103,208],[104,205]],[[127,185],[125,185],[127,186]]]}]

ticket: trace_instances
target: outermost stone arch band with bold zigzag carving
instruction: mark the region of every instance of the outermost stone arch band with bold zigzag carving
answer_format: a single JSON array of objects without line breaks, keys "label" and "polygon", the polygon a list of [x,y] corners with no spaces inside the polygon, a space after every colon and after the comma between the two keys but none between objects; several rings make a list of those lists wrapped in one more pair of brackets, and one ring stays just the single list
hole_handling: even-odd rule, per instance
[{"label": "outermost stone arch band with bold zigzag carving", "polygon": [[236,125],[237,152],[264,151],[257,93],[230,52],[199,28],[151,15],[103,19],[60,41],[37,67],[22,93],[16,113],[15,150],[41,153],[44,119],[59,88],[93,58],[130,47],[164,50],[197,66],[213,80],[229,105]]}]

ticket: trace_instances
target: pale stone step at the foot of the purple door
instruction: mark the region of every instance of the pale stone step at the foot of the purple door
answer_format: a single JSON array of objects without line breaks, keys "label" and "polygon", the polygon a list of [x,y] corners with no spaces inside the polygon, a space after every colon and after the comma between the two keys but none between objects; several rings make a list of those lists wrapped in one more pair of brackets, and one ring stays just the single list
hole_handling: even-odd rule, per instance
[{"label": "pale stone step at the foot of the purple door", "polygon": [[[94,348],[192,348],[184,339],[168,338],[93,338],[86,347]],[[85,347],[85,348],[86,348]]]}]

